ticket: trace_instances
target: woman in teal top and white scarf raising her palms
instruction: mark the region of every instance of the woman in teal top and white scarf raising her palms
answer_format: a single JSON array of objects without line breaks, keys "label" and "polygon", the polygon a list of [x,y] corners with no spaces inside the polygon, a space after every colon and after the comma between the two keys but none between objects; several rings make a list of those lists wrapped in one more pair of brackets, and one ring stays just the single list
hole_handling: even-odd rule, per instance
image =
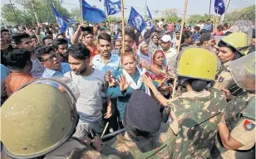
[{"label": "woman in teal top and white scarf raising her palms", "polygon": [[115,86],[107,89],[107,96],[117,98],[117,109],[122,119],[126,111],[126,105],[130,99],[130,94],[132,94],[134,90],[143,90],[146,94],[150,94],[150,90],[141,82],[140,75],[145,74],[146,70],[140,70],[140,68],[136,66],[133,52],[126,51],[121,55],[121,65],[122,69],[113,72],[112,75],[114,79],[111,80],[111,83],[119,81],[119,85],[111,84]]}]

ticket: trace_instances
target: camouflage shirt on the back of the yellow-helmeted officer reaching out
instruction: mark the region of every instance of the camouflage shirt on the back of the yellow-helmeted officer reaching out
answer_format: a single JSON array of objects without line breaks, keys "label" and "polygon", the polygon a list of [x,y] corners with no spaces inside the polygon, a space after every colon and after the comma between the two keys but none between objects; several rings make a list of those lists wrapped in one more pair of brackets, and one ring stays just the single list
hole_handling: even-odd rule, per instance
[{"label": "camouflage shirt on the back of the yellow-helmeted officer reaching out", "polygon": [[208,96],[171,99],[170,128],[177,135],[171,158],[210,157],[225,106],[224,94],[217,89],[210,89]]}]

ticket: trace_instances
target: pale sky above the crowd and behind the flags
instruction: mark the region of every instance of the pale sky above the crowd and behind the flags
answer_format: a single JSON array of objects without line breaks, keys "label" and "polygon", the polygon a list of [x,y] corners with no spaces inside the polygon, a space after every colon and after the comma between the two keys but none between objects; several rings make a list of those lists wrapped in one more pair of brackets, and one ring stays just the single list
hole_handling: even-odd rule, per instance
[{"label": "pale sky above the crowd and behind the flags", "polygon": [[[43,0],[42,0],[43,1]],[[116,0],[111,0],[115,2]],[[211,13],[214,14],[214,1],[211,0]],[[96,7],[101,8],[104,11],[104,0],[86,0],[89,4],[96,5]],[[2,4],[10,3],[9,0],[1,0]],[[21,5],[17,3],[17,0],[12,0],[12,3],[18,8],[22,8]],[[192,14],[208,14],[209,12],[209,3],[210,0],[189,0],[187,7],[187,17]],[[135,7],[137,12],[140,12],[141,15],[145,15],[145,5],[150,8],[150,12],[153,18],[162,17],[162,12],[168,8],[176,8],[178,10],[178,16],[182,17],[185,0],[124,0],[125,4],[125,17],[129,17],[130,14],[130,6]],[[254,0],[230,0],[229,3],[229,11],[234,9],[240,9],[242,7],[248,7],[251,5],[255,5]],[[66,7],[67,10],[71,11],[73,7],[79,7],[79,0],[63,0],[63,7]],[[155,12],[159,11],[159,12]],[[121,14],[116,14],[116,17],[121,17]]]}]

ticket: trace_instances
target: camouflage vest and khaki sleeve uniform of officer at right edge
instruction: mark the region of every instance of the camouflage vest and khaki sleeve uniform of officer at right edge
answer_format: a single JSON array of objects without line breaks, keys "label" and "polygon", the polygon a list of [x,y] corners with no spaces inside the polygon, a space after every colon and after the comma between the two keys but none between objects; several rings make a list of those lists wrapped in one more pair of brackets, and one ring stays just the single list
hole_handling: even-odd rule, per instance
[{"label": "camouflage vest and khaki sleeve uniform of officer at right edge", "polygon": [[[236,99],[229,101],[225,110],[226,124],[230,135],[244,147],[240,147],[238,152],[244,153],[254,147],[255,142],[255,94],[241,94]],[[251,124],[252,128],[246,128],[246,124]],[[235,158],[236,151],[227,150],[220,145],[218,136],[216,147],[213,152],[214,158]],[[249,151],[247,151],[249,152]],[[244,155],[243,155],[244,156]]]}]

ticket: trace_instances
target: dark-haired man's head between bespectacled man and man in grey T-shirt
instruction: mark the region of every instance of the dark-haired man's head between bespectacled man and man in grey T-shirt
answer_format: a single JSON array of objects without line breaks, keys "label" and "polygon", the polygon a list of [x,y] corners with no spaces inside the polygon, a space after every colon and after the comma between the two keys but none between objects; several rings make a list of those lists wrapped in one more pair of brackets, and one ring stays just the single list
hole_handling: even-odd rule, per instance
[{"label": "dark-haired man's head between bespectacled man and man in grey T-shirt", "polygon": [[67,62],[68,60],[68,54],[67,54],[67,48],[68,44],[65,39],[55,39],[52,41],[52,45],[55,48],[55,52],[60,55],[59,59],[61,62]]}]

